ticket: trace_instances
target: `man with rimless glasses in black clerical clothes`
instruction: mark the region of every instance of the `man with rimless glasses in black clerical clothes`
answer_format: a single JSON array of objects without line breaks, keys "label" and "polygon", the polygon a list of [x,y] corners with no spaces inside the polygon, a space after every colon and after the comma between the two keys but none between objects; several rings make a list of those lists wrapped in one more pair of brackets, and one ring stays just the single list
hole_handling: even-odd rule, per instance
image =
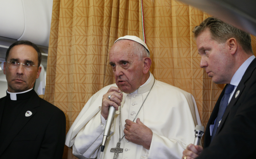
[{"label": "man with rimless glasses in black clerical clothes", "polygon": [[61,159],[65,115],[33,90],[42,55],[30,41],[17,41],[4,62],[8,89],[0,99],[0,159]]}]

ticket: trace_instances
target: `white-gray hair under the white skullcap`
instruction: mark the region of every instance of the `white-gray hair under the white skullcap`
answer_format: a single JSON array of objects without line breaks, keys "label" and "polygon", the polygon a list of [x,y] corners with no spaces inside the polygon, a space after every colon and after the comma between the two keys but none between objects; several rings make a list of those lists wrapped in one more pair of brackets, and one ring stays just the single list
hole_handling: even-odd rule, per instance
[{"label": "white-gray hair under the white skullcap", "polygon": [[[116,40],[116,42],[122,41],[122,40],[129,40],[129,39],[119,39],[119,40]],[[136,41],[133,41],[132,49],[133,49],[133,53],[139,57],[139,60],[142,60],[144,57],[150,57],[150,53],[146,49],[146,47]]]}]

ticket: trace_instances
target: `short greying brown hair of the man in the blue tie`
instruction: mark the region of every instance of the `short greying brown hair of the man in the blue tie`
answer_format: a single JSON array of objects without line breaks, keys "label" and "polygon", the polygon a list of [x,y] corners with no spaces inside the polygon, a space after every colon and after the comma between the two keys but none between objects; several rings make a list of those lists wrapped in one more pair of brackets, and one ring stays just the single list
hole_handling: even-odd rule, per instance
[{"label": "short greying brown hair of the man in the blue tie", "polygon": [[203,32],[206,28],[210,30],[211,38],[218,43],[224,43],[229,38],[235,38],[247,54],[253,54],[251,36],[230,24],[227,24],[215,17],[205,19],[199,26],[193,28],[194,37]]}]

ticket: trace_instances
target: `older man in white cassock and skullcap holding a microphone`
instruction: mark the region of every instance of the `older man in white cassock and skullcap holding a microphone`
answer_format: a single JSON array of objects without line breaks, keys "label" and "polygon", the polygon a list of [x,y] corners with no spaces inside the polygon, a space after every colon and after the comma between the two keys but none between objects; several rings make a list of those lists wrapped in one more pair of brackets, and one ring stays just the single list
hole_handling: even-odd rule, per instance
[{"label": "older man in white cassock and skullcap holding a microphone", "polygon": [[[95,93],[66,135],[80,159],[100,158],[108,107],[117,111],[101,159],[178,159],[201,124],[192,94],[149,72],[150,52],[136,36],[118,38],[109,51],[115,84]],[[118,150],[115,148],[119,148]]]}]

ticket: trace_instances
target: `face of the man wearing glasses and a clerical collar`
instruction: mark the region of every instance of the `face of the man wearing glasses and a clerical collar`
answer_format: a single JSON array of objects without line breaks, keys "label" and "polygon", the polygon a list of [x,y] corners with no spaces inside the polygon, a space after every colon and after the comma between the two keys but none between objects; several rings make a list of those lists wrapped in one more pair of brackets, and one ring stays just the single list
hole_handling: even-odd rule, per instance
[{"label": "face of the man wearing glasses and a clerical collar", "polygon": [[16,45],[10,52],[7,62],[14,60],[18,63],[25,64],[30,62],[35,66],[26,69],[22,64],[17,68],[11,68],[10,63],[4,63],[4,74],[6,75],[9,92],[23,92],[33,88],[37,78],[39,78],[41,67],[38,66],[37,51],[29,45]]}]

